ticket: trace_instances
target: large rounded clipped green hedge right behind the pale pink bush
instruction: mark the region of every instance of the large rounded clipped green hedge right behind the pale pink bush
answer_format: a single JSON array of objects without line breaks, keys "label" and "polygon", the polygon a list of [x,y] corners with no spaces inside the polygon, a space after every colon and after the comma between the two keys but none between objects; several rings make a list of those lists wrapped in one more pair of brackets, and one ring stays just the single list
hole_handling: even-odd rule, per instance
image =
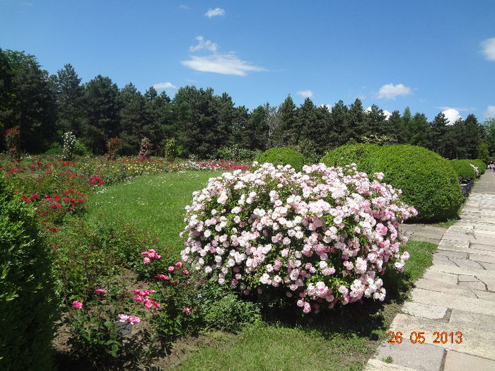
[{"label": "large rounded clipped green hedge right behind the pale pink bush", "polygon": [[344,147],[328,153],[321,162],[342,166],[355,161],[358,169],[368,174],[383,172],[383,182],[402,189],[401,199],[417,209],[415,220],[435,222],[457,215],[464,197],[458,175],[445,158],[426,148],[403,144]]}]

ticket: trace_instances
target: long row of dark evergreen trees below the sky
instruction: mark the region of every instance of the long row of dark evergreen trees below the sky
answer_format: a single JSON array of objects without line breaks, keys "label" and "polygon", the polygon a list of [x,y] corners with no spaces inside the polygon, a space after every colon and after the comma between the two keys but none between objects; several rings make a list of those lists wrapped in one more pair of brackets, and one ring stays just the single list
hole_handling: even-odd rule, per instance
[{"label": "long row of dark evergreen trees below the sky", "polygon": [[0,49],[0,129],[10,127],[21,130],[21,151],[28,153],[61,143],[66,131],[95,155],[105,153],[105,143],[115,136],[124,155],[136,155],[146,137],[157,154],[164,141],[175,139],[184,158],[240,152],[249,157],[289,146],[318,160],[327,150],[363,141],[409,143],[445,158],[495,153],[495,120],[482,124],[474,114],[450,125],[443,113],[429,122],[409,108],[386,117],[377,105],[363,110],[359,99],[349,106],[339,100],[328,109],[306,98],[297,107],[290,95],[278,107],[267,103],[250,111],[211,88],[185,86],[171,99],[153,87],[144,94],[132,83],[118,88],[101,75],[81,83],[71,64],[49,75],[33,55]]}]

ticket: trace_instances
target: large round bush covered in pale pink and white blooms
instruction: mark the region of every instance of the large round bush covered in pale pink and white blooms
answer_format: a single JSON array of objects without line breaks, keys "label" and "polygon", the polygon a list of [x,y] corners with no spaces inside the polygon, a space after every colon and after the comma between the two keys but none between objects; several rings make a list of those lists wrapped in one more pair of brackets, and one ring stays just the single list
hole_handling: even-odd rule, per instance
[{"label": "large round bush covered in pale pink and white blooms", "polygon": [[380,276],[403,271],[399,225],[417,211],[380,179],[354,164],[269,163],[211,178],[186,207],[182,259],[219,285],[284,295],[304,313],[384,300]]}]

